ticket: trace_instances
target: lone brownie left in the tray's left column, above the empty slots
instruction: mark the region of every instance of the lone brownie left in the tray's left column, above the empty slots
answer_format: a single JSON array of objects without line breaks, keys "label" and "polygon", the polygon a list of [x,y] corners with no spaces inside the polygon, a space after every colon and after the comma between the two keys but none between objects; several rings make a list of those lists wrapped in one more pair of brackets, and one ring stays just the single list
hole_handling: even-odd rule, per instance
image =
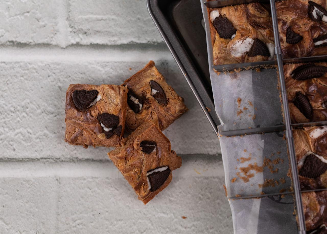
[{"label": "lone brownie left in the tray's left column, above the empty slots", "polygon": [[274,58],[270,10],[261,3],[208,9],[214,65]]}]

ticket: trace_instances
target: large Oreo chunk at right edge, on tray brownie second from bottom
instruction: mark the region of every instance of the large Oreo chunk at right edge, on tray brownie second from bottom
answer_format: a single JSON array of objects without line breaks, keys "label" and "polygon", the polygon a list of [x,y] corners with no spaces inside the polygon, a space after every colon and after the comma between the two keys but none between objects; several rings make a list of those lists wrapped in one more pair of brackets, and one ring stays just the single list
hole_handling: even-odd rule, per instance
[{"label": "large Oreo chunk at right edge, on tray brownie second from bottom", "polygon": [[307,178],[317,178],[327,170],[327,163],[322,162],[314,154],[308,155],[301,167],[299,174]]}]

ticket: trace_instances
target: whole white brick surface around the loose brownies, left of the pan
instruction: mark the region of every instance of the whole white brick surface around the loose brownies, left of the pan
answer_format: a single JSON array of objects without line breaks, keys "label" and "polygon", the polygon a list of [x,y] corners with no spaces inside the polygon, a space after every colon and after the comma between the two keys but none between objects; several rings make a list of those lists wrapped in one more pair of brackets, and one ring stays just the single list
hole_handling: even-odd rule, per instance
[{"label": "whole white brick surface around the loose brownies, left of the pan", "polygon": [[[145,0],[0,0],[0,51],[0,233],[232,233],[218,139]],[[183,166],[144,206],[109,149],[64,142],[64,103],[149,60],[190,110],[164,131]]]}]

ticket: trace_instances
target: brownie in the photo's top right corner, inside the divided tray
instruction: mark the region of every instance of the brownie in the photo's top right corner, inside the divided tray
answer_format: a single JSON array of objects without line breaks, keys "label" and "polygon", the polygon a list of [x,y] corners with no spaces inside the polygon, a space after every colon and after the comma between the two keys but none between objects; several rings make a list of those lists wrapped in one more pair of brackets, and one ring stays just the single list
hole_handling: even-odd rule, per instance
[{"label": "brownie in the photo's top right corner, inside the divided tray", "polygon": [[283,58],[327,54],[327,1],[276,2]]}]

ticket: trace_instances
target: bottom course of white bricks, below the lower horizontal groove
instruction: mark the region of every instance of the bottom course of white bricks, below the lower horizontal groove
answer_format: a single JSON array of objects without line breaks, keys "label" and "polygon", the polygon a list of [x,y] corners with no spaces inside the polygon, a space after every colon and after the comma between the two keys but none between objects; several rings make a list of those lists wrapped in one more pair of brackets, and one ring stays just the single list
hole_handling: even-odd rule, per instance
[{"label": "bottom course of white bricks, below the lower horizontal groove", "polygon": [[183,157],[147,205],[109,161],[7,162],[0,171],[3,233],[232,233],[216,157]]}]

